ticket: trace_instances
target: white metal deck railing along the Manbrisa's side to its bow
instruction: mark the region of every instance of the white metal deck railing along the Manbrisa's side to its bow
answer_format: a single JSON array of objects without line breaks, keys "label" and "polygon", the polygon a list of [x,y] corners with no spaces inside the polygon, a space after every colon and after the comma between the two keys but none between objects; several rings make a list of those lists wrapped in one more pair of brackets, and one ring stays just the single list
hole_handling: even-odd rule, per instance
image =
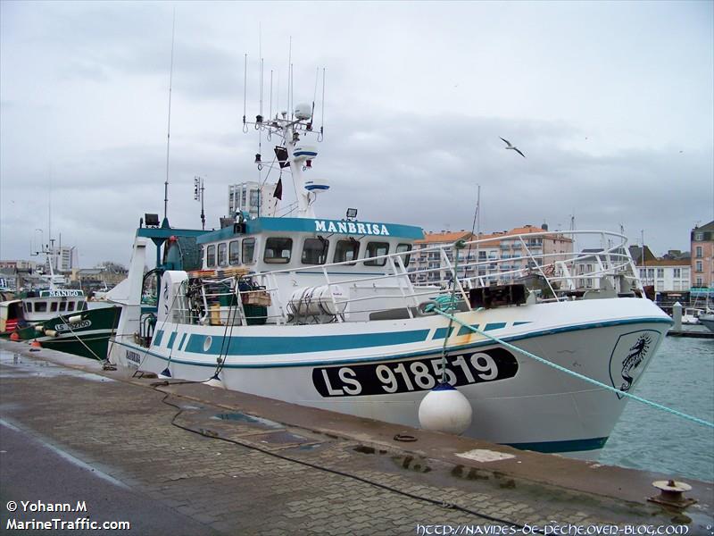
[{"label": "white metal deck railing along the Manbrisa's side to its bow", "polygon": [[[384,261],[384,272],[345,275],[349,272],[345,268],[355,264],[355,261],[345,261],[320,265],[321,273],[315,280],[314,265],[288,268],[250,274],[248,277],[260,285],[260,289],[248,290],[240,288],[237,277],[205,279],[202,281],[203,314],[196,315],[195,307],[186,307],[187,322],[210,322],[216,320],[216,314],[220,315],[219,323],[233,324],[251,323],[249,318],[253,323],[350,322],[372,319],[371,314],[384,315],[390,311],[399,314],[399,310],[402,310],[401,317],[412,318],[423,314],[420,307],[425,303],[451,293],[454,286],[458,306],[463,310],[471,308],[469,289],[508,283],[525,284],[533,295],[532,300],[541,302],[579,299],[588,297],[588,293],[643,296],[642,283],[624,235],[580,230],[524,233],[507,238],[512,246],[510,253],[496,259],[480,255],[478,260],[479,251],[498,249],[494,245],[496,240],[489,238],[356,261],[356,264]],[[582,247],[583,243],[591,247],[577,251],[577,246]],[[432,254],[438,257],[438,266],[419,266],[419,257],[426,255],[431,259]],[[411,258],[410,265],[405,264],[407,257]],[[311,279],[301,280],[301,272],[309,272]],[[290,293],[305,288],[304,281],[310,281],[313,288],[329,289],[328,305],[334,314],[295,313],[295,300],[291,301]],[[215,291],[220,284],[226,285],[225,291]],[[207,291],[211,288],[213,290]],[[348,289],[347,295],[337,291],[338,288]],[[246,297],[256,292],[267,293],[270,306],[266,314],[251,316],[246,314],[243,304],[250,301]],[[216,303],[222,305],[216,309],[212,306]]]}]

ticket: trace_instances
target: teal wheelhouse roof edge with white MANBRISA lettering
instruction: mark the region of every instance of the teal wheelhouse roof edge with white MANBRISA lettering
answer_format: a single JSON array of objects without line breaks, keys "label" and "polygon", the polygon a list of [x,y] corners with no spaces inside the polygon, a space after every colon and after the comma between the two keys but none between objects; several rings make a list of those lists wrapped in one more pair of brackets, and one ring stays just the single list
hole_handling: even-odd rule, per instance
[{"label": "teal wheelhouse roof edge with white MANBRISA lettering", "polygon": [[[381,222],[345,222],[320,218],[256,218],[245,222],[245,234],[261,232],[309,232],[320,234],[342,234],[352,236],[374,236],[419,240],[424,231],[414,225]],[[228,239],[234,236],[232,227],[208,232],[198,238],[199,244]]]}]

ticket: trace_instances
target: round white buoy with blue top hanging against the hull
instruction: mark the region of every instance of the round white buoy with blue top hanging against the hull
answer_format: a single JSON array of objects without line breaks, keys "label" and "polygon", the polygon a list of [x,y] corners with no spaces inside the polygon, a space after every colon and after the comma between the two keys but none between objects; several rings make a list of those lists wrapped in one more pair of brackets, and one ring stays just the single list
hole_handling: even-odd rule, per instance
[{"label": "round white buoy with blue top hanging against the hull", "polygon": [[421,399],[419,423],[424,430],[461,434],[471,424],[469,400],[448,383],[440,383]]}]

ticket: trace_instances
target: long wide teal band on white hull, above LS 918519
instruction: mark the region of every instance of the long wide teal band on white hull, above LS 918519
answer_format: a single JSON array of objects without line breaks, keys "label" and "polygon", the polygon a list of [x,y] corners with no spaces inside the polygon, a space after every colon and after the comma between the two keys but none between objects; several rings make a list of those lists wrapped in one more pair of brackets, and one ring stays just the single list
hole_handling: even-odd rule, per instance
[{"label": "long wide teal band on white hull, above LS 918519", "polygon": [[[360,335],[332,335],[328,337],[230,337],[228,356],[270,356],[273,354],[303,354],[329,352],[354,348],[373,348],[422,342],[427,340],[428,330],[396,331],[390,333],[364,333]],[[218,356],[223,347],[222,337],[212,337],[211,346],[203,351],[206,335],[192,334],[186,345],[187,352]]]}]

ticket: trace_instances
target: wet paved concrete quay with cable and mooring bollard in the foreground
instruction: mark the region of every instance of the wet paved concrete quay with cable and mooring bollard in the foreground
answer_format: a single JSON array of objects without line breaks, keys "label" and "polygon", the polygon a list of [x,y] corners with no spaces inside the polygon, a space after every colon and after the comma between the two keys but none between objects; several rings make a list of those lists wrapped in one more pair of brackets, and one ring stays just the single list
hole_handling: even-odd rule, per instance
[{"label": "wet paved concrete quay with cable and mooring bollard in the foreground", "polygon": [[647,500],[670,477],[0,342],[2,533],[89,534],[89,517],[131,523],[102,531],[118,534],[711,534],[712,482],[687,480],[685,508]]}]

